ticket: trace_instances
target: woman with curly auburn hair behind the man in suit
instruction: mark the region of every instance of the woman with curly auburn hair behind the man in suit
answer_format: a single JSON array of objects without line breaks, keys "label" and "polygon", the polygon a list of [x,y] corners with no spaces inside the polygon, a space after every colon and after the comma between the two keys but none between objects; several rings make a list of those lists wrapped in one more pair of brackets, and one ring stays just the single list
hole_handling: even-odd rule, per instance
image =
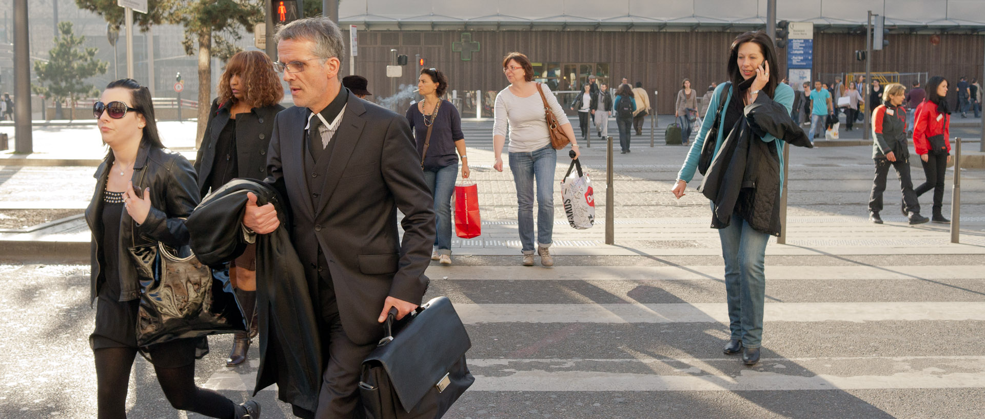
[{"label": "woman with curly auburn hair behind the man in suit", "polygon": [[[205,138],[198,148],[195,171],[198,191],[205,198],[234,178],[267,176],[267,146],[274,117],[284,110],[284,97],[274,63],[260,51],[242,51],[230,58],[212,101]],[[226,366],[246,361],[250,339],[256,336],[256,248],[246,247],[229,264],[230,282],[249,320],[249,331],[235,333]]]}]

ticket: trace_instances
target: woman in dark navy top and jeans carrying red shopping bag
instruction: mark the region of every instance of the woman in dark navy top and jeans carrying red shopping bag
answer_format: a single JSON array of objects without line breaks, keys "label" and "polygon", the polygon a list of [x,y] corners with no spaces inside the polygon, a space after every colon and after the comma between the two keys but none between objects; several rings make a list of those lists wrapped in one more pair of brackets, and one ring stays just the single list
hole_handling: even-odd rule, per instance
[{"label": "woman in dark navy top and jeans carrying red shopping bag", "polygon": [[[414,130],[425,181],[434,198],[437,234],[432,261],[451,265],[451,194],[458,178],[458,159],[462,177],[469,177],[469,157],[465,154],[465,135],[458,109],[441,96],[448,90],[448,78],[435,69],[422,69],[418,91],[425,99],[411,104],[407,120]],[[458,151],[458,155],[455,155]]]}]

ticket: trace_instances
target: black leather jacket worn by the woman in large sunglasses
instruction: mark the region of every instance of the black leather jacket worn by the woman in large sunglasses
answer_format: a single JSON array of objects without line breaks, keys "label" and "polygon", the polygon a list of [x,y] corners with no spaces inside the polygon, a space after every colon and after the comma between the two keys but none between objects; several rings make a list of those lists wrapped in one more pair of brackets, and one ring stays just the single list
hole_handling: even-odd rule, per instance
[{"label": "black leather jacket worn by the woman in large sunglasses", "polygon": [[[100,280],[105,278],[99,264],[102,251],[99,249],[101,233],[98,232],[102,229],[102,191],[113,160],[110,152],[96,169],[96,191],[86,209],[86,222],[92,231],[90,302],[96,300]],[[183,217],[188,216],[199,202],[195,169],[191,162],[177,152],[151,147],[147,142],[141,142],[130,180],[133,181],[133,189],[137,194],[143,194],[146,188],[151,188],[151,211],[140,225],[126,210],[120,216],[120,246],[119,254],[116,255],[121,282],[120,301],[133,300],[140,291],[137,270],[131,262],[128,249],[158,241],[174,248],[188,244],[188,229]]]}]

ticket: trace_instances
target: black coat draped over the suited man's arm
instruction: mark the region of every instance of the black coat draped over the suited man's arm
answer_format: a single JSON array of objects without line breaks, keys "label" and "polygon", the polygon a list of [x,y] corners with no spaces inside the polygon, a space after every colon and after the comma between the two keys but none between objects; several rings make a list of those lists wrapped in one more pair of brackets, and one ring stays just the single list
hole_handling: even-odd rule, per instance
[{"label": "black coat draped over the suited man's arm", "polygon": [[[259,206],[271,203],[281,226],[255,234],[242,226],[246,194]],[[312,304],[316,283],[308,283],[288,232],[284,200],[267,184],[233,179],[206,197],[188,217],[191,249],[203,264],[215,266],[239,256],[246,243],[256,243],[257,310],[260,318],[260,368],[257,391],[276,384],[282,401],[308,411],[318,406],[321,386],[321,338]]]}]

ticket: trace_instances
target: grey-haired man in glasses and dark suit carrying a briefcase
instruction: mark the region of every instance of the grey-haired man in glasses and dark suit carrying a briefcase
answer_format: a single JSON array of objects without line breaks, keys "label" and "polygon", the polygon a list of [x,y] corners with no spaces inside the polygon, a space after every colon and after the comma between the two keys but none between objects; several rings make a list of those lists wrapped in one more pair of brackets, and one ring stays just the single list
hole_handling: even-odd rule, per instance
[{"label": "grey-haired man in glasses and dark suit carrying a briefcase", "polygon": [[[361,417],[361,362],[391,308],[400,319],[421,304],[434,243],[433,201],[410,126],[342,86],[343,39],[323,17],[277,33],[275,66],[295,106],[274,122],[265,182],[291,209],[292,241],[316,296],[326,351],[317,411],[295,406],[301,417]],[[276,229],[273,206],[249,199],[243,224],[260,234]]]}]

